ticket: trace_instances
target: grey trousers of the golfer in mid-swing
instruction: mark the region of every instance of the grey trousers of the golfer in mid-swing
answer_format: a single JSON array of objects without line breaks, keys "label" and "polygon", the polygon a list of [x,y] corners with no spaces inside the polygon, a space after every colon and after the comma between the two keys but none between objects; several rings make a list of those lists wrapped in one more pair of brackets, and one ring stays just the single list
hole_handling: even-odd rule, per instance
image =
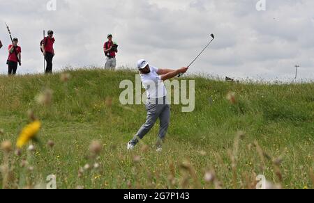
[{"label": "grey trousers of the golfer in mid-swing", "polygon": [[132,145],[136,145],[139,140],[142,140],[144,136],[149,133],[151,128],[154,127],[157,119],[160,120],[160,127],[158,133],[158,140],[156,145],[161,145],[165,139],[167,129],[170,123],[170,105],[167,103],[165,97],[158,99],[159,101],[147,101],[146,110],[147,110],[147,119],[146,122],[142,125],[140,130],[130,141]]}]

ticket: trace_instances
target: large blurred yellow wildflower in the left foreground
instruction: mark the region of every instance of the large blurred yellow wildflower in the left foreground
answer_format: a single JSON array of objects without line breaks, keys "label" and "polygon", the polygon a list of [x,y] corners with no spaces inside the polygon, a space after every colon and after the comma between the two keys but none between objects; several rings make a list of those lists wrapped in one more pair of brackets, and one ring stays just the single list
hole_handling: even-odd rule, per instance
[{"label": "large blurred yellow wildflower in the left foreground", "polygon": [[19,138],[17,138],[17,148],[22,148],[29,142],[29,140],[33,139],[40,130],[40,127],[41,123],[38,120],[24,127],[24,129],[22,129],[22,132],[20,133]]}]

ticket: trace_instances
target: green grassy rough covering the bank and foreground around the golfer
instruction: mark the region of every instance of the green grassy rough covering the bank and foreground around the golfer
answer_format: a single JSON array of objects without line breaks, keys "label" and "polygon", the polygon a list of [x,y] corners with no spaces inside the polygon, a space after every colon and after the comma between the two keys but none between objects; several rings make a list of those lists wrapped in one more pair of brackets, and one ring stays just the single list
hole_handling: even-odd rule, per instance
[{"label": "green grassy rough covering the bank and foreground around the golfer", "polygon": [[[194,76],[195,111],[172,106],[167,142],[158,154],[158,124],[134,152],[126,151],[146,116],[144,105],[119,103],[119,83],[135,81],[135,72],[66,72],[66,83],[61,74],[0,76],[0,143],[16,142],[29,109],[43,122],[36,152],[10,154],[10,188],[33,187],[49,174],[57,176],[58,188],[254,188],[257,174],[282,188],[313,188],[314,83],[225,83]],[[52,104],[37,104],[34,98],[47,88]],[[235,92],[236,104],[227,101],[228,92]],[[53,149],[45,146],[48,140]],[[87,158],[91,140],[103,144],[96,160]],[[20,167],[22,159],[32,172]],[[94,162],[100,168],[79,178],[80,167]],[[204,174],[215,178],[205,181]]]}]

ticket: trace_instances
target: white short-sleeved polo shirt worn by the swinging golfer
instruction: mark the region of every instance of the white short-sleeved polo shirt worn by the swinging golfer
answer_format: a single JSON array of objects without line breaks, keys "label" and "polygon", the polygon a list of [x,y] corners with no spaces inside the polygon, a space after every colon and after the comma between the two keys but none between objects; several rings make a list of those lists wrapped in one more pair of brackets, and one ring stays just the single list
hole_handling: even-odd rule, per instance
[{"label": "white short-sleeved polo shirt worn by the swinging golfer", "polygon": [[151,72],[149,74],[140,74],[143,86],[147,91],[148,99],[158,99],[167,95],[165,84],[161,76],[157,74],[158,68],[149,65]]}]

